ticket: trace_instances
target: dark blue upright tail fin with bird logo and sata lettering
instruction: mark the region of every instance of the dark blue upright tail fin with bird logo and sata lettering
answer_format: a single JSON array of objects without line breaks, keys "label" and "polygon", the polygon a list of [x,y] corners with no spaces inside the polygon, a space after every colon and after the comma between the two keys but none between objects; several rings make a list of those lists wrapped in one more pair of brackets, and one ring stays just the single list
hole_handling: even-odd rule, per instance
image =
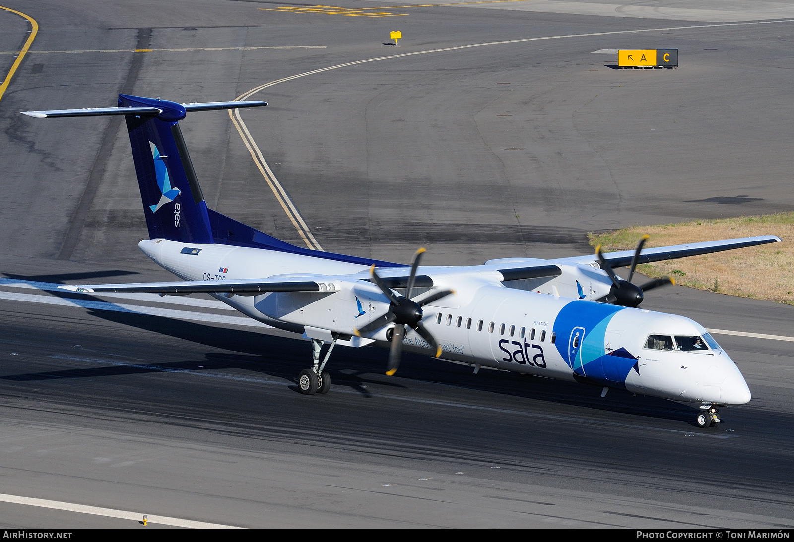
[{"label": "dark blue upright tail fin with bird logo and sata lettering", "polygon": [[179,129],[185,107],[176,102],[119,94],[119,107],[156,107],[157,115],[126,115],[149,237],[183,243],[213,242],[210,217]]}]

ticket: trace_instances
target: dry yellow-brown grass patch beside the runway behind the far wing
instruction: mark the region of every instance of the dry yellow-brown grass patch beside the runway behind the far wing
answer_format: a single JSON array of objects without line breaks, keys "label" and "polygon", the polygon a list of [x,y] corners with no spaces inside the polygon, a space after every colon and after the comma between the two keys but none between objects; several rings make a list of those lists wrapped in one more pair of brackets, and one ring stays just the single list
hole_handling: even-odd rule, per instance
[{"label": "dry yellow-brown grass patch beside the runway behind the far wing", "polygon": [[588,237],[593,247],[600,244],[602,252],[615,252],[634,249],[644,233],[650,236],[646,248],[777,235],[782,243],[649,263],[637,270],[650,277],[669,275],[699,290],[794,305],[794,243],[787,242],[794,239],[794,213],[635,226]]}]

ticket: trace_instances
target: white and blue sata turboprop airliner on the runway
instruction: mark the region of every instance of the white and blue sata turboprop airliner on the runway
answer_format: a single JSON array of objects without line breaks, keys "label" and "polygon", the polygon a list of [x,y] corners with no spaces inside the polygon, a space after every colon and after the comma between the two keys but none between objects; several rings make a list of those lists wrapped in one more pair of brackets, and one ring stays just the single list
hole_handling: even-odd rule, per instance
[{"label": "white and blue sata turboprop airliner on the runway", "polygon": [[[31,117],[124,115],[149,239],[138,247],[180,281],[60,286],[82,293],[203,292],[312,344],[298,375],[303,394],[330,389],[337,344],[403,349],[480,367],[622,388],[698,407],[696,424],[719,424],[719,406],[750,401],[736,363],[696,321],[640,308],[673,279],[632,283],[639,263],[777,243],[755,236],[560,259],[491,259],[468,267],[420,266],[296,247],[208,209],[179,129],[187,113],[266,102],[169,102],[119,94],[118,106],[24,111]],[[615,267],[629,267],[628,280]],[[325,354],[323,348],[327,345]],[[321,359],[322,358],[322,359]]]}]

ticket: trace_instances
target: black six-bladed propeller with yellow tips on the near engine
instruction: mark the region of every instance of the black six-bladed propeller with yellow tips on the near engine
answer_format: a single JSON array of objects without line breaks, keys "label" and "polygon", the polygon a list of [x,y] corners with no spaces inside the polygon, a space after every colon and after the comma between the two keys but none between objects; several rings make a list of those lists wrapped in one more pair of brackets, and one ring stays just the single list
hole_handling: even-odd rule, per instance
[{"label": "black six-bladed propeller with yellow tips on the near engine", "polygon": [[383,316],[377,317],[375,320],[371,321],[367,325],[360,329],[356,329],[353,331],[357,336],[360,336],[364,333],[371,333],[376,331],[377,329],[381,329],[386,325],[394,323],[394,327],[389,329],[386,333],[386,336],[389,340],[391,340],[391,348],[389,350],[389,361],[386,366],[386,374],[391,376],[397,372],[397,368],[399,367],[400,359],[403,356],[403,339],[405,338],[406,329],[405,326],[409,326],[410,329],[413,329],[416,333],[422,336],[422,339],[426,340],[428,344],[430,344],[430,348],[433,348],[436,351],[436,357],[441,356],[441,347],[438,346],[436,340],[427,331],[427,328],[422,325],[422,316],[424,313],[422,312],[422,307],[426,306],[428,303],[432,303],[437,301],[438,299],[445,298],[449,294],[454,294],[454,290],[437,290],[435,292],[427,292],[424,295],[419,295],[416,298],[411,299],[411,294],[414,293],[414,283],[416,282],[416,270],[419,267],[419,260],[422,259],[422,254],[426,251],[424,248],[420,248],[414,254],[414,261],[410,264],[410,275],[408,277],[407,283],[407,290],[405,295],[395,294],[391,291],[391,288],[384,283],[384,280],[378,276],[375,271],[375,266],[373,265],[369,269],[370,275],[372,275],[372,280],[380,287],[380,290],[384,292],[384,295],[389,299],[389,309],[387,313]]}]

